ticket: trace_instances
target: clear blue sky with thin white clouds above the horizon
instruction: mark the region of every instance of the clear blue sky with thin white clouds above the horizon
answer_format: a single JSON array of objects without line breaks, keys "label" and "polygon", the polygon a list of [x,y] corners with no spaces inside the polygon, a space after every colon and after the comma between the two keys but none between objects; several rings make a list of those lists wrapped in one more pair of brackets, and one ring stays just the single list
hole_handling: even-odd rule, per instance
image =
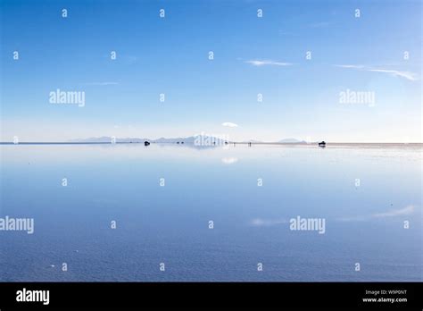
[{"label": "clear blue sky with thin white clouds above the horizon", "polygon": [[[236,140],[422,141],[418,0],[0,5],[2,141],[201,131]],[[85,106],[50,104],[57,88],[85,92]],[[346,89],[373,92],[374,105],[340,103]]]}]

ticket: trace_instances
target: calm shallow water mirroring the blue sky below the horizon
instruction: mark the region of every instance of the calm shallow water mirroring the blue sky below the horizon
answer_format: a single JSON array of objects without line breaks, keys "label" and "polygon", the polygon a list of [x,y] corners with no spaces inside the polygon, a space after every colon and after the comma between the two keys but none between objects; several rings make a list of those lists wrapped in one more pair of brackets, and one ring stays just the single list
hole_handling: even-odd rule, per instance
[{"label": "calm shallow water mirroring the blue sky below the horizon", "polygon": [[0,151],[0,281],[422,281],[421,147]]}]

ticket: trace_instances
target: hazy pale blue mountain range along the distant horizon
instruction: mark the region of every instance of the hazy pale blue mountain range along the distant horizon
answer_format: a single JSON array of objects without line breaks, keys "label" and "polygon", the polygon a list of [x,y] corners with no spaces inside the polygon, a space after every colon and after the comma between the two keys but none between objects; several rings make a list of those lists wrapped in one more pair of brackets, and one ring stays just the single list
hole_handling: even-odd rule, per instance
[{"label": "hazy pale blue mountain range along the distant horizon", "polygon": [[[140,139],[140,138],[125,138],[120,139],[116,138],[117,143],[144,143],[145,141],[153,142],[153,143],[186,143],[186,144],[194,144],[195,139],[198,139],[198,136],[191,136],[185,138],[173,138],[173,139]],[[211,141],[218,141],[221,140],[219,138],[208,137]],[[89,139],[71,139],[69,142],[72,143],[110,143],[112,141],[112,137],[103,136],[103,137],[95,137]],[[246,140],[245,143],[252,142],[252,143],[261,143],[260,140]],[[282,144],[305,144],[304,140],[300,139],[282,139],[278,140],[277,143]]]}]

